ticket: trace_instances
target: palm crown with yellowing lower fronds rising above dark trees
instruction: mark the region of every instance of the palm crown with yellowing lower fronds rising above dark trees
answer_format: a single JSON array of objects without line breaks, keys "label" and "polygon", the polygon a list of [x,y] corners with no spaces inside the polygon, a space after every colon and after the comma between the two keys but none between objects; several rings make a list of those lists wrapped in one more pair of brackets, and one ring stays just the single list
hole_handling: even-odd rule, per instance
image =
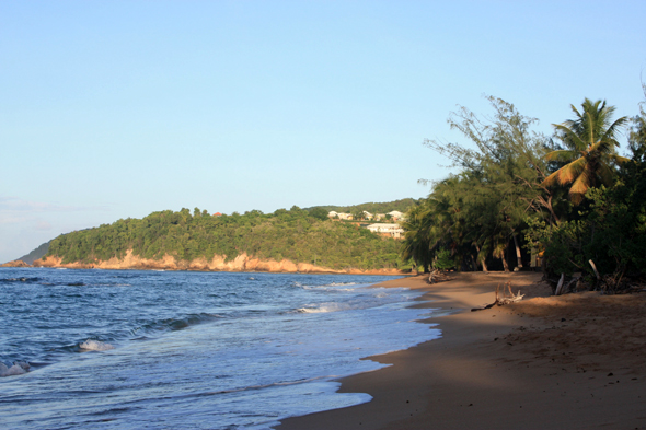
[{"label": "palm crown with yellowing lower fronds rising above dark trees", "polygon": [[575,205],[580,204],[589,188],[612,183],[613,163],[627,161],[616,154],[615,148],[619,147],[616,135],[628,118],[624,116],[611,124],[615,108],[607,106],[605,101],[586,98],[581,106],[579,113],[572,105],[576,119],[554,124],[568,149],[552,151],[545,158],[567,164],[543,181],[545,186],[572,184],[569,198]]}]

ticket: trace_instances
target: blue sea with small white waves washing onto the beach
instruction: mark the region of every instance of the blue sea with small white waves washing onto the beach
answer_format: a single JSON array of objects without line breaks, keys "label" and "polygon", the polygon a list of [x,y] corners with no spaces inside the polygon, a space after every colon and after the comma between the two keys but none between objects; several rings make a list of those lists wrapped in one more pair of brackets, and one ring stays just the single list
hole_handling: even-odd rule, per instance
[{"label": "blue sea with small white waves washing onto the beach", "polygon": [[392,279],[0,269],[0,427],[268,429],[439,336]]}]

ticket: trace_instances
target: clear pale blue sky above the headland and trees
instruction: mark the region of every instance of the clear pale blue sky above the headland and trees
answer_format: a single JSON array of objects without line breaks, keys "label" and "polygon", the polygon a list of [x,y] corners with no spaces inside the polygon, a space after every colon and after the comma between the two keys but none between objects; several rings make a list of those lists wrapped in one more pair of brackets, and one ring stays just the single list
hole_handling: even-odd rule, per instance
[{"label": "clear pale blue sky above the headland and trees", "polygon": [[0,0],[0,263],[198,207],[425,197],[424,139],[485,95],[540,120],[634,116],[646,1]]}]

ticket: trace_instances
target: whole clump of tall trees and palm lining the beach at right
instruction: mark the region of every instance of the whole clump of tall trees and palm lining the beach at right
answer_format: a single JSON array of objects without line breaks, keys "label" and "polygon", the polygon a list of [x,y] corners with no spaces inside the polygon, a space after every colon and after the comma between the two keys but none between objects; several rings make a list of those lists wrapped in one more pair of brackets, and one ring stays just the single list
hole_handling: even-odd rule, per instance
[{"label": "whole clump of tall trees and palm lining the beach at right", "polygon": [[[646,95],[646,88],[644,89]],[[585,100],[546,137],[535,119],[488,97],[494,114],[462,107],[449,117],[472,144],[427,140],[460,173],[434,184],[408,211],[402,255],[419,267],[527,267],[547,276],[584,272],[615,289],[646,267],[646,113],[613,120],[614,107]],[[627,131],[627,158],[618,154]],[[438,258],[440,257],[440,258]],[[592,264],[590,264],[590,260]],[[593,266],[601,276],[598,278]]]}]

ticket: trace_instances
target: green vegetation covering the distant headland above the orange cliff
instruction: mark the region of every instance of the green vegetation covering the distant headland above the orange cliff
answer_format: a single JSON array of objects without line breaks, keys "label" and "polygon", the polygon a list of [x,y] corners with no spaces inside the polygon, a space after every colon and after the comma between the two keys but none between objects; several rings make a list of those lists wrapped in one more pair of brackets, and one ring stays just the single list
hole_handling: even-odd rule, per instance
[{"label": "green vegetation covering the distant headland above the orange cliff", "polygon": [[174,256],[192,260],[215,255],[228,260],[242,253],[257,258],[290,259],[333,269],[401,267],[399,243],[357,225],[320,220],[292,207],[264,214],[210,216],[195,208],[153,212],[56,237],[48,256],[64,263],[122,258],[127,249],[143,258]]}]

